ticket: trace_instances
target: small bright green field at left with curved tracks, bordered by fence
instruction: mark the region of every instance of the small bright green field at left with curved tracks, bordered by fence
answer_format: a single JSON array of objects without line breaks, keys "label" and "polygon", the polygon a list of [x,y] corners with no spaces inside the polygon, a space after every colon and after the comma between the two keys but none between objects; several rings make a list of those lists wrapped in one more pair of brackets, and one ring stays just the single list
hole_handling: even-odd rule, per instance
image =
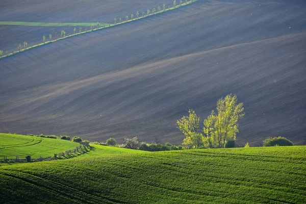
[{"label": "small bright green field at left with curved tracks, bordered by fence", "polygon": [[53,157],[54,154],[80,146],[79,143],[67,140],[12,134],[0,134],[0,141],[0,159],[4,156],[8,159],[16,156],[25,159],[27,155],[31,155],[32,159]]}]

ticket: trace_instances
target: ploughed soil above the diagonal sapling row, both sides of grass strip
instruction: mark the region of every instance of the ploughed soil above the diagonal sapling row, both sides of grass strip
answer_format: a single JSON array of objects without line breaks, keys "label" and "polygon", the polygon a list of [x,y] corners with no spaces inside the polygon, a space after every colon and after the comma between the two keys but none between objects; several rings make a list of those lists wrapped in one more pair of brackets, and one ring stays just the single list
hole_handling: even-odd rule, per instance
[{"label": "ploughed soil above the diagonal sapling row, both sides of grass strip", "polygon": [[[25,21],[25,22],[94,22],[96,23],[114,23],[114,18],[121,17],[125,20],[125,16],[131,18],[131,14],[136,16],[136,12],[147,9],[152,11],[157,10],[158,6],[163,4],[173,6],[172,0],[121,0],[121,1],[39,1],[39,0],[3,0],[0,3],[0,21]],[[79,32],[79,26],[76,27]],[[87,27],[81,26],[83,31],[90,30],[90,25]],[[28,45],[34,45],[42,42],[42,36],[45,35],[47,40],[49,34],[55,33],[60,36],[64,30],[68,35],[73,34],[73,27],[27,27],[16,25],[0,25],[0,49],[8,52],[16,51],[18,45],[23,45],[23,42],[28,42]]]}]

